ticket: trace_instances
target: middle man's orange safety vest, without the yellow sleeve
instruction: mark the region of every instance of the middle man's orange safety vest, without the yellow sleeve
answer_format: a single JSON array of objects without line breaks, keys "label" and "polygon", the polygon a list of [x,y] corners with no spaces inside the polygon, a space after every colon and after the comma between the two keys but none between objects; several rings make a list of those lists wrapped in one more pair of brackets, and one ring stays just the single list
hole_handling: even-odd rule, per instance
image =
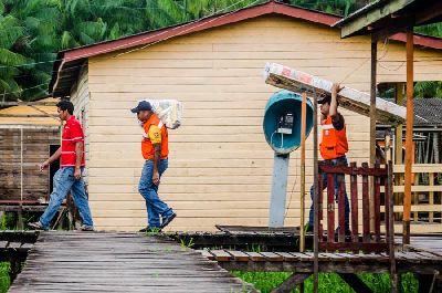
[{"label": "middle man's orange safety vest, without the yellow sleeve", "polygon": [[143,134],[141,140],[141,154],[145,159],[154,159],[155,149],[149,138],[149,128],[151,125],[157,125],[161,129],[161,159],[166,159],[169,155],[169,134],[167,133],[166,125],[158,118],[156,114],[152,114],[150,118],[143,124],[145,133]]}]

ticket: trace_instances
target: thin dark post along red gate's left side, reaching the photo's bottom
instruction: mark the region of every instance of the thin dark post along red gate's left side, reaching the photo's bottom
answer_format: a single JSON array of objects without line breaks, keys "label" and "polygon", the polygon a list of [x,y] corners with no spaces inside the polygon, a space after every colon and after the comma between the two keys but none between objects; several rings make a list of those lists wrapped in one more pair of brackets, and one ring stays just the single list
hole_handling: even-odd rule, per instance
[{"label": "thin dark post along red gate's left side, reaching the photo's bottom", "polygon": [[318,287],[318,276],[319,276],[319,186],[318,186],[318,125],[317,125],[317,94],[315,91],[314,98],[313,98],[313,178],[314,178],[314,237],[313,237],[313,254],[314,254],[314,262],[313,262],[313,292],[317,293]]}]

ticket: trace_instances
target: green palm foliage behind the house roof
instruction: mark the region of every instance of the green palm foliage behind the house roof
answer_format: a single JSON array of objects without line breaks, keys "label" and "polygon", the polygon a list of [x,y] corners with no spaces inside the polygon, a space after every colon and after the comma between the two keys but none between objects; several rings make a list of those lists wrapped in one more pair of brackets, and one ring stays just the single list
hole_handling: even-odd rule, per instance
[{"label": "green palm foliage behind the house roof", "polygon": [[[56,52],[260,4],[266,0],[0,0],[0,101],[48,94]],[[369,0],[285,0],[348,15]],[[417,28],[442,36],[442,24]],[[440,85],[417,92],[440,96]]]}]

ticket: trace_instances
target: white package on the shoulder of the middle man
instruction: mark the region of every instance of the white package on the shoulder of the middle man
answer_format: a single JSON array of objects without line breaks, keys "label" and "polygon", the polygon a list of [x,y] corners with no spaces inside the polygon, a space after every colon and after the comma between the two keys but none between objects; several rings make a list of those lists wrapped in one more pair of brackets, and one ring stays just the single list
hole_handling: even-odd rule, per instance
[{"label": "white package on the shoulder of the middle man", "polygon": [[176,129],[182,123],[182,103],[177,100],[151,100],[146,98],[152,106],[152,111],[167,128]]}]

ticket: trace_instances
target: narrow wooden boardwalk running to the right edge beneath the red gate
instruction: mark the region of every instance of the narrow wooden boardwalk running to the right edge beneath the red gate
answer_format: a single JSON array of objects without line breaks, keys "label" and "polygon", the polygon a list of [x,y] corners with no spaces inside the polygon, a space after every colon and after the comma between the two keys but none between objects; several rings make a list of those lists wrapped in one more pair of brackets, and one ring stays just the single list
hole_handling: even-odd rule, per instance
[{"label": "narrow wooden boardwalk running to the right edge beneath the red gate", "polygon": [[[231,250],[200,251],[227,270],[313,273],[313,252],[249,252]],[[326,253],[318,257],[320,272],[360,273],[388,272],[386,253]],[[434,274],[442,272],[442,253],[396,252],[398,272]]]}]

